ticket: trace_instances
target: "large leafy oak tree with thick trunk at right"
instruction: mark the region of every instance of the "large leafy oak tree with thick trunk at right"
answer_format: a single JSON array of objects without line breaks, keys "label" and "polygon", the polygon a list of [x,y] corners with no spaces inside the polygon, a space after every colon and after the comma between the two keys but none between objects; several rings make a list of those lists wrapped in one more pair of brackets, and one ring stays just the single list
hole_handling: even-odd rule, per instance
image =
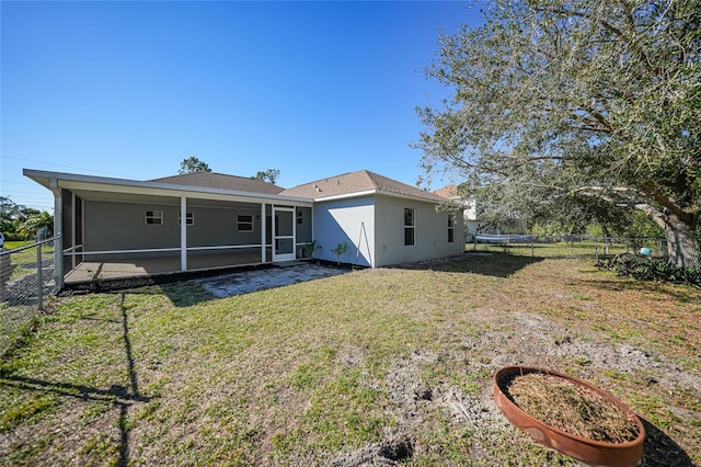
[{"label": "large leafy oak tree with thick trunk at right", "polygon": [[[639,209],[701,266],[701,0],[507,1],[441,35],[418,110],[429,173],[525,203]],[[502,190],[503,191],[503,190]]]}]

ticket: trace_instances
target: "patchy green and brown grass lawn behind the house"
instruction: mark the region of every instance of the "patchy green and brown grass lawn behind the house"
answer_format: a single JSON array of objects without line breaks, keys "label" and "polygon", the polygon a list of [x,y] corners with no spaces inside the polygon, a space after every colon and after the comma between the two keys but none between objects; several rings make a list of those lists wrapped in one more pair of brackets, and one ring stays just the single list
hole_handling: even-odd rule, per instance
[{"label": "patchy green and brown grass lawn behind the house", "polygon": [[501,415],[493,373],[587,379],[701,463],[701,291],[503,253],[223,299],[186,282],[57,298],[0,361],[9,465],[574,465]]}]

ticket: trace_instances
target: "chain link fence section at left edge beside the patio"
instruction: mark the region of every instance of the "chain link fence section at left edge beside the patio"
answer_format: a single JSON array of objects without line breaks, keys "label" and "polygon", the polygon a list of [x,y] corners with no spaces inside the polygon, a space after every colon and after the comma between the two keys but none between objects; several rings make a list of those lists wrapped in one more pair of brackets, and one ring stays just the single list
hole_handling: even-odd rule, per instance
[{"label": "chain link fence section at left edge beside the patio", "polygon": [[57,249],[60,237],[0,250],[0,355],[31,328],[48,296],[58,292]]}]

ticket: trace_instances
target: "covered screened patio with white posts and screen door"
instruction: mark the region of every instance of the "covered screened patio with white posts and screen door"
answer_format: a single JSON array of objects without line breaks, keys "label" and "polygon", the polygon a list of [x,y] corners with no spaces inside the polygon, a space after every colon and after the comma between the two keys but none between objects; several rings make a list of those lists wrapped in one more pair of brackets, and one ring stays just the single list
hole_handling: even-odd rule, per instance
[{"label": "covered screened patio with white posts and screen door", "polygon": [[61,285],[309,255],[313,202],[280,196],[281,189],[262,181],[216,173],[152,181],[24,173],[54,192]]}]

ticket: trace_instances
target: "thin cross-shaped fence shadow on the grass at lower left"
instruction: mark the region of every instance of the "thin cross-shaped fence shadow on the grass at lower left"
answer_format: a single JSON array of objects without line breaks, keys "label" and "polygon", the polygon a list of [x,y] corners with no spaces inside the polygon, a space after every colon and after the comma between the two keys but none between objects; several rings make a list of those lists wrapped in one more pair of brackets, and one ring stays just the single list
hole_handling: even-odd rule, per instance
[{"label": "thin cross-shaped fence shadow on the grass at lower left", "polygon": [[[128,386],[111,385],[108,389],[78,385],[72,383],[49,381],[45,379],[30,378],[25,376],[14,375],[12,373],[3,374],[0,372],[0,386],[10,386],[27,391],[37,391],[43,394],[53,394],[60,397],[74,398],[81,401],[112,402],[119,410],[119,445],[118,458],[116,465],[129,465],[129,423],[128,409],[135,402],[149,402],[151,397],[143,396],[139,392],[138,378],[134,365],[134,356],[131,352],[131,340],[129,338],[129,321],[127,309],[124,305],[125,294],[122,293],[119,310],[122,314],[122,329],[125,356],[127,363],[127,372],[129,377]],[[110,322],[115,322],[110,320]]]}]

